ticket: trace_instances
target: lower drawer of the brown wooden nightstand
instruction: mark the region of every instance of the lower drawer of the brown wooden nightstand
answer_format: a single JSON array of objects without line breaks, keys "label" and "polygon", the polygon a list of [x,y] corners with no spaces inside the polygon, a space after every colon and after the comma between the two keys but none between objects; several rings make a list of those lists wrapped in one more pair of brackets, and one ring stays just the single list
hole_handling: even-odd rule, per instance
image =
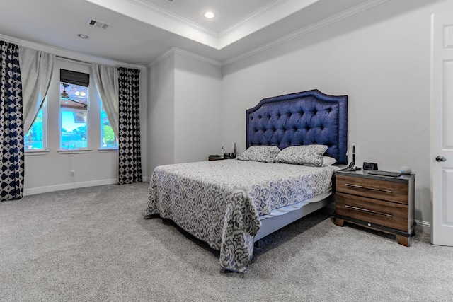
[{"label": "lower drawer of the brown wooden nightstand", "polygon": [[336,193],[336,214],[408,232],[408,206]]}]

